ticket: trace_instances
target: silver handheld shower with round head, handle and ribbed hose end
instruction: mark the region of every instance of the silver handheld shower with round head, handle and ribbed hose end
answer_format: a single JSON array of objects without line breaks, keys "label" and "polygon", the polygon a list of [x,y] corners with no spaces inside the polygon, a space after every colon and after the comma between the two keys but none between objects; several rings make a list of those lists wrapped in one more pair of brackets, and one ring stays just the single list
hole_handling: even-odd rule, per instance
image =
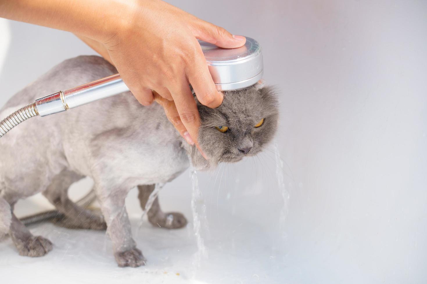
[{"label": "silver handheld shower with round head, handle and ribbed hose end", "polygon": [[[222,49],[204,41],[199,41],[199,44],[217,90],[243,89],[261,79],[263,54],[256,40],[246,37],[245,45],[235,49]],[[47,95],[0,121],[0,137],[33,116],[52,115],[127,91],[129,88],[120,75],[115,74]]]}]

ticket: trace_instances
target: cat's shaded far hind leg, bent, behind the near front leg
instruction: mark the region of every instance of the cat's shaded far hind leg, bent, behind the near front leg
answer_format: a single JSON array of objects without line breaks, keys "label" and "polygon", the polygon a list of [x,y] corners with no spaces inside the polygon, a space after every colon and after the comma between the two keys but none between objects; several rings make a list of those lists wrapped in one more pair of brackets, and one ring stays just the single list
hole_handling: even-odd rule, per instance
[{"label": "cat's shaded far hind leg, bent, behind the near front leg", "polygon": [[61,227],[70,229],[94,229],[105,230],[107,225],[101,214],[80,207],[68,198],[68,188],[83,176],[64,170],[56,175],[52,183],[43,192],[43,195],[62,214],[53,222]]}]

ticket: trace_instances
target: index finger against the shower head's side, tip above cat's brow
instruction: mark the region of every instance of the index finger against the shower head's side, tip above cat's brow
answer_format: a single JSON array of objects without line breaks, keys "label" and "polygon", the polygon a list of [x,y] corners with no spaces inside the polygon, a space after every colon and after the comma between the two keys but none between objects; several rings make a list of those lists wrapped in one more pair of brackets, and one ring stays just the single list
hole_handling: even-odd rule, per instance
[{"label": "index finger against the shower head's side, tip above cat's brow", "polygon": [[[202,51],[200,52],[202,53]],[[205,57],[199,55],[195,61],[187,70],[188,81],[200,103],[210,108],[216,108],[221,105],[224,95],[216,90]]]}]

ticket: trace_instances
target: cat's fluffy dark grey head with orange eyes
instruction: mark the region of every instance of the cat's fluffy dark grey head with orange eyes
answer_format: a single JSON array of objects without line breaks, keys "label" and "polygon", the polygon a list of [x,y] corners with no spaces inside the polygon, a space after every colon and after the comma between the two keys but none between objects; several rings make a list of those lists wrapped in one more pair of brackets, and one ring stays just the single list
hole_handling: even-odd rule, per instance
[{"label": "cat's fluffy dark grey head with orange eyes", "polygon": [[197,107],[201,119],[199,145],[211,163],[237,162],[257,155],[277,130],[277,94],[260,83],[224,92],[224,100],[216,109],[199,102]]}]

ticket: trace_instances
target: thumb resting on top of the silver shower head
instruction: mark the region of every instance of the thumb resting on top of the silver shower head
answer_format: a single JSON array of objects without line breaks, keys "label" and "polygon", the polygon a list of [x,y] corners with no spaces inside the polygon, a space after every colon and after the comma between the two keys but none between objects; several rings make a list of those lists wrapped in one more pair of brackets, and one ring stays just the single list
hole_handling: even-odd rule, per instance
[{"label": "thumb resting on top of the silver shower head", "polygon": [[199,20],[190,26],[193,35],[208,43],[213,43],[222,48],[236,48],[246,43],[246,38],[241,35],[233,35],[226,29],[211,23]]}]

